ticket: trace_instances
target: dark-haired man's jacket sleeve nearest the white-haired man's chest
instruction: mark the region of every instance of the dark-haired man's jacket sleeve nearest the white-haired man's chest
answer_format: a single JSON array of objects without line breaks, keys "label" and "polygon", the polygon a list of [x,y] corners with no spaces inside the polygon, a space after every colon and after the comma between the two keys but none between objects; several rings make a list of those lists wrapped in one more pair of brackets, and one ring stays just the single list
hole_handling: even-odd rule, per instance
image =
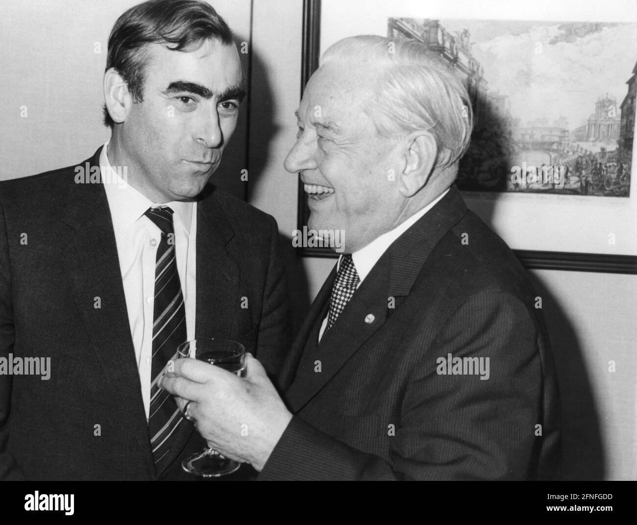
[{"label": "dark-haired man's jacket sleeve nearest the white-haired man's chest", "polygon": [[257,339],[257,359],[269,377],[275,379],[290,349],[290,298],[283,268],[276,220],[269,217],[268,268],[263,290],[263,307]]}]

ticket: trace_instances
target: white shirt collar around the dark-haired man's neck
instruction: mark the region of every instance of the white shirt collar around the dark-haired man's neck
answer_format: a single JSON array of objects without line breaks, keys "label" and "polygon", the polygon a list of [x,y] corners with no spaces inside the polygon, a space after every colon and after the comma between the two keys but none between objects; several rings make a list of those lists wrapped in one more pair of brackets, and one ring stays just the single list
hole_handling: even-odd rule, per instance
[{"label": "white shirt collar around the dark-haired man's neck", "polygon": [[124,173],[122,173],[122,175],[124,175],[124,178],[122,178],[122,176],[113,169],[113,166],[111,166],[111,163],[108,161],[108,155],[106,155],[106,147],[108,147],[108,141],[106,141],[99,154],[99,168],[113,218],[113,227],[118,231],[128,231],[140,217],[143,217],[148,208],[169,206],[174,212],[173,222],[175,231],[178,228],[182,228],[186,234],[189,234],[193,203],[182,201],[171,201],[162,204],[154,203],[147,196],[129,185],[127,183],[127,176]]}]

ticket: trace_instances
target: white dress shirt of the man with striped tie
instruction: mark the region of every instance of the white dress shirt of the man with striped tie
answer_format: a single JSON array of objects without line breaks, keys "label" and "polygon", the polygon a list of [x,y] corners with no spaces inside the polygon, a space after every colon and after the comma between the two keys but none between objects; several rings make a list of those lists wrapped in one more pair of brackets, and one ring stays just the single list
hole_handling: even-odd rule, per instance
[{"label": "white dress shirt of the man with striped tie", "polygon": [[197,203],[154,203],[125,183],[111,167],[106,155],[108,141],[99,157],[102,182],[108,198],[117,255],[119,257],[132,345],[140,373],[141,396],[150,407],[150,375],[155,298],[155,258],[161,230],[144,213],[150,207],[169,206],[173,210],[177,271],[182,285],[188,340],[194,338],[196,301]]}]

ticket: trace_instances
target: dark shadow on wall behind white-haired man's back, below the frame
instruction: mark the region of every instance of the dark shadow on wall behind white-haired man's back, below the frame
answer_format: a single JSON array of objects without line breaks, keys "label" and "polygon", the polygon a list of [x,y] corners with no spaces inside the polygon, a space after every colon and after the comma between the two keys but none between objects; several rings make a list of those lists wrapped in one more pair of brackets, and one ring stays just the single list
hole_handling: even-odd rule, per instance
[{"label": "dark shadow on wall behind white-haired man's back, below the frame", "polygon": [[557,368],[562,409],[562,464],[557,478],[602,480],[605,465],[599,415],[578,336],[559,300],[538,277],[529,275],[542,298],[543,316]]}]

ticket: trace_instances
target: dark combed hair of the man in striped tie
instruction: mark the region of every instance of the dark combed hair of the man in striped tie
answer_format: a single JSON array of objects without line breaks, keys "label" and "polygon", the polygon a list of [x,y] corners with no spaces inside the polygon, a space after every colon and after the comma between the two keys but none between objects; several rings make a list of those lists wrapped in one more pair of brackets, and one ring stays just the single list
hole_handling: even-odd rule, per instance
[{"label": "dark combed hair of the man in striped tie", "polygon": [[[199,0],[149,0],[133,6],[117,19],[108,37],[106,70],[122,75],[135,102],[143,101],[148,44],[164,44],[189,51],[206,40],[233,43],[233,34],[212,6]],[[104,125],[115,122],[104,104]]]}]

